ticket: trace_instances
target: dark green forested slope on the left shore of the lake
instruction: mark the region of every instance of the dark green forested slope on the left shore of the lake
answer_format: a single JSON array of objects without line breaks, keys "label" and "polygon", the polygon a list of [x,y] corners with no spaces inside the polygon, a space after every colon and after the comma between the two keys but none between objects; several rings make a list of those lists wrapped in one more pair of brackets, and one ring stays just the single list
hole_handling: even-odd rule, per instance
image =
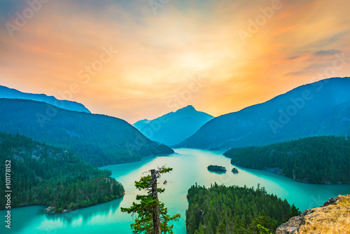
[{"label": "dark green forested slope on the left shore of the lake", "polygon": [[[99,170],[73,153],[28,137],[0,132],[0,160],[10,161],[11,207],[47,205],[60,213],[107,202],[124,195],[111,171]],[[5,180],[0,181],[5,188]],[[1,196],[0,204],[6,204]],[[0,209],[4,209],[1,206]]]}]

